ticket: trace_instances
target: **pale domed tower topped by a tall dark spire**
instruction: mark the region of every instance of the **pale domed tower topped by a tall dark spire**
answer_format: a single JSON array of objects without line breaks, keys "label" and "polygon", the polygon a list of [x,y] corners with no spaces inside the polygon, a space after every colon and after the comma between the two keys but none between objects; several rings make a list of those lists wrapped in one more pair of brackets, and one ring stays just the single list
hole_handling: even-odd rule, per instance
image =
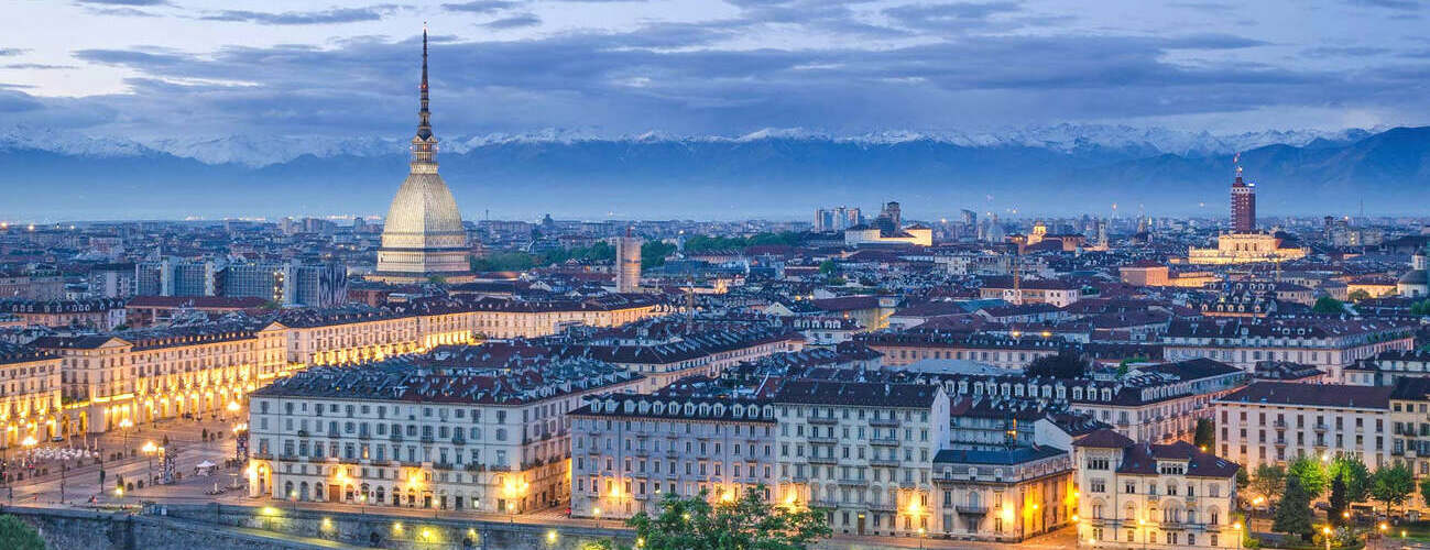
[{"label": "pale domed tower topped by a tall dark spire", "polygon": [[440,277],[450,283],[473,279],[468,264],[466,230],[456,200],[438,176],[438,139],[428,110],[428,31],[422,30],[422,110],[412,137],[408,180],[392,199],[383,220],[378,271],[369,279],[418,283]]}]

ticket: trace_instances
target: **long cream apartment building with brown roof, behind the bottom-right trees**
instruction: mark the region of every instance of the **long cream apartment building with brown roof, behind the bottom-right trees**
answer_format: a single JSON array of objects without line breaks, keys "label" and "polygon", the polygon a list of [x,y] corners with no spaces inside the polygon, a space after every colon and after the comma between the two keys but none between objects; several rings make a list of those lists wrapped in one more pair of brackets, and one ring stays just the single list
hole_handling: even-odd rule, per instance
[{"label": "long cream apartment building with brown roof, behind the bottom-right trees", "polygon": [[1213,401],[1220,456],[1256,470],[1301,456],[1391,459],[1390,387],[1256,381]]}]

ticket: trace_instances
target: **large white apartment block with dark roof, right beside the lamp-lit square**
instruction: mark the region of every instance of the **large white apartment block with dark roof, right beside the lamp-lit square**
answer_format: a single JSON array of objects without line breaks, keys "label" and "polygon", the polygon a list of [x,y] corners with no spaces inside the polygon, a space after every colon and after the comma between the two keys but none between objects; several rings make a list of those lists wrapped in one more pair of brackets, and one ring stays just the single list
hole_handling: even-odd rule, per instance
[{"label": "large white apartment block with dark roof, right beside the lamp-lit square", "polygon": [[633,393],[592,360],[313,367],[255,391],[249,496],[525,513],[571,496],[566,414]]}]

